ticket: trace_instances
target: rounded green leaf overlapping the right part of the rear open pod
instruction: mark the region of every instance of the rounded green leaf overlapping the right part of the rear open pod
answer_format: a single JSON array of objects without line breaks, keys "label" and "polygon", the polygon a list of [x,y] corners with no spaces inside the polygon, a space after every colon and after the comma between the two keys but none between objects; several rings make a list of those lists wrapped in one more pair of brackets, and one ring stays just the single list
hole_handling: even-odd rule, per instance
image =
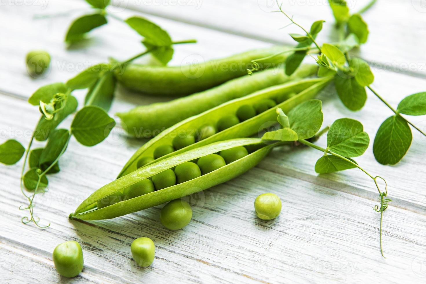
[{"label": "rounded green leaf overlapping the right part of the rear open pod", "polygon": [[290,128],[297,133],[299,139],[311,138],[320,130],[323,118],[321,107],[320,100],[309,100],[290,110]]}]

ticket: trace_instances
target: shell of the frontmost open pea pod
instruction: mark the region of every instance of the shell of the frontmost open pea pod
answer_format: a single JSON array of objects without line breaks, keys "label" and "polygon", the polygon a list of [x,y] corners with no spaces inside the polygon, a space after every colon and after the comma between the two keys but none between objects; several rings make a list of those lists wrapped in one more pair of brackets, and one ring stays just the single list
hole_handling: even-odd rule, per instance
[{"label": "shell of the frontmost open pea pod", "polygon": [[[221,168],[207,174],[203,174],[192,180],[188,180],[184,183],[172,185],[167,188],[97,209],[96,204],[99,200],[102,200],[112,194],[116,194],[117,192],[120,192],[141,180],[153,177],[155,174],[174,168],[184,162],[199,159],[209,154],[214,154],[239,146],[251,149],[250,153],[222,166]],[[157,206],[162,203],[202,191],[220,183],[225,183],[226,181],[245,173],[250,168],[257,165],[269,153],[273,146],[274,145],[263,144],[261,139],[258,138],[231,139],[205,145],[176,156],[162,159],[161,161],[133,171],[132,173],[120,177],[117,180],[99,188],[86,200],[84,200],[80,206],[78,206],[75,213],[70,215],[70,218],[78,218],[82,220],[110,219]]]}]

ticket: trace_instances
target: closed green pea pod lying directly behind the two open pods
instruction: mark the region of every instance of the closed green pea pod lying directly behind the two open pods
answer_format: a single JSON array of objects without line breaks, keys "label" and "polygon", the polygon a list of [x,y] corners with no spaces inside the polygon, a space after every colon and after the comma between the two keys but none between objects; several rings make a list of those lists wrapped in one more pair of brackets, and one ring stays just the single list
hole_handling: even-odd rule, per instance
[{"label": "closed green pea pod lying directly behind the two open pods", "polygon": [[[125,113],[117,113],[123,128],[131,136],[152,137],[162,130],[186,119],[202,113],[219,104],[246,96],[266,87],[282,84],[292,79],[304,78],[317,72],[316,65],[302,65],[296,72],[287,76],[282,70],[265,70],[226,82],[204,92],[172,101],[143,105]],[[140,81],[145,81],[140,80]],[[163,88],[164,85],[158,85]],[[178,87],[174,87],[178,89]]]}]

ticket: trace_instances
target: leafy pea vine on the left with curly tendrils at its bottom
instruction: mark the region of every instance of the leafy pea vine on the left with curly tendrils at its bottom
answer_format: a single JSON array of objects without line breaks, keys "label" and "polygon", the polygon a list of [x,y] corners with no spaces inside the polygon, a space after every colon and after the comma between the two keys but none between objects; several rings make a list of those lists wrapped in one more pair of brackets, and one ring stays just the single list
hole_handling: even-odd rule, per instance
[{"label": "leafy pea vine on the left with curly tendrils at its bottom", "polygon": [[[88,2],[92,4],[99,1]],[[87,32],[86,27],[76,22],[70,30],[73,31],[73,35],[79,32],[80,36],[75,36],[73,39],[81,38],[84,31]],[[71,137],[73,136],[82,145],[94,146],[106,139],[115,126],[114,119],[107,114],[115,93],[114,73],[123,70],[128,63],[148,53],[163,64],[167,64],[173,56],[173,45],[196,42],[195,40],[172,41],[166,31],[141,17],[130,17],[124,22],[144,38],[142,41],[146,48],[144,52],[123,62],[95,64],[66,83],[59,82],[40,87],[28,99],[30,104],[38,106],[41,113],[28,147],[24,148],[14,139],[0,145],[0,162],[6,165],[13,165],[24,156],[20,189],[28,203],[20,206],[20,210],[28,210],[29,216],[22,217],[23,223],[33,222],[40,228],[50,225],[50,223],[46,226],[39,224],[40,219],[34,214],[35,196],[46,192],[49,183],[46,176],[60,171],[59,159],[65,153]],[[75,114],[69,129],[57,129],[66,117],[77,110],[78,102],[72,96],[72,92],[79,89],[88,89],[84,107]],[[43,148],[32,149],[35,140],[47,142]],[[26,171],[27,161],[29,169]]]}]

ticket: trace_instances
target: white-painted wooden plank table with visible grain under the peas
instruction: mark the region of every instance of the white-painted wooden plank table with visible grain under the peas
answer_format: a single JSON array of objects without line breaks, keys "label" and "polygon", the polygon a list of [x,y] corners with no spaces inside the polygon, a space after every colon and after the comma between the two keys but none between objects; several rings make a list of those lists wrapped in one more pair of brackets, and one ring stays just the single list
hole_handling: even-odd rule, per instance
[{"label": "white-painted wooden plank table with visible grain under the peas", "polygon": [[[171,65],[189,55],[217,58],[271,43],[292,43],[291,26],[282,15],[268,11],[273,1],[182,0],[122,1],[118,17],[141,15],[158,23],[174,40],[196,38],[197,44],[176,46]],[[186,5],[179,5],[186,3]],[[366,1],[349,1],[357,10]],[[115,20],[91,33],[78,48],[63,43],[72,19],[88,11],[83,1],[2,1],[0,6],[0,142],[17,139],[26,145],[39,116],[26,99],[38,87],[66,81],[108,56],[130,58],[142,50],[138,35]],[[308,26],[327,20],[320,42],[333,38],[327,1],[284,1],[284,9]],[[72,11],[72,12],[69,12]],[[59,15],[58,15],[59,13]],[[50,15],[35,19],[34,15]],[[53,15],[56,15],[53,17]],[[426,89],[426,7],[423,0],[378,0],[364,15],[370,37],[360,56],[373,67],[375,88],[392,104]],[[30,49],[46,49],[52,70],[33,79],[24,64]],[[77,93],[82,101],[84,93]],[[325,124],[341,117],[360,120],[371,140],[391,115],[370,93],[366,107],[351,112],[332,88],[320,94]],[[110,114],[158,101],[119,88]],[[425,117],[413,117],[419,127]],[[63,122],[68,127],[70,118]],[[37,197],[36,214],[48,229],[24,225],[27,212],[19,189],[20,167],[0,166],[0,282],[67,281],[128,283],[425,283],[426,140],[413,132],[408,154],[396,166],[374,160],[370,146],[357,162],[389,183],[394,201],[384,213],[382,258],[377,191],[357,169],[317,176],[314,164],[321,153],[307,148],[276,150],[256,168],[225,184],[204,191],[193,207],[193,220],[171,232],[159,222],[161,206],[113,220],[70,221],[68,214],[96,188],[110,182],[143,141],[126,138],[120,128],[99,145],[86,148],[70,142],[60,160],[61,171],[49,177],[49,192]],[[321,139],[318,143],[324,143]],[[254,198],[274,192],[282,213],[261,221],[253,212]],[[130,244],[147,236],[156,246],[155,261],[138,268]],[[61,278],[52,262],[58,243],[76,240],[84,253],[84,270],[76,278]]]}]

